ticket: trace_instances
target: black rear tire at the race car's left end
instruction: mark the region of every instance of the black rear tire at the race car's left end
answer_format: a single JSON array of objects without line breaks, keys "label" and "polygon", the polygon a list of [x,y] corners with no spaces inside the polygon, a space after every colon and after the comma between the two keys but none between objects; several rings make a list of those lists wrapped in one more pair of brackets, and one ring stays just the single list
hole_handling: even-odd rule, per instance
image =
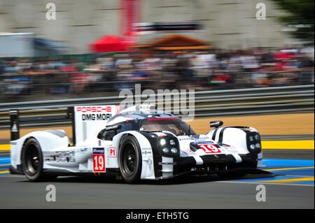
[{"label": "black rear tire at the race car's left end", "polygon": [[30,181],[55,180],[57,175],[43,173],[43,153],[35,138],[29,138],[22,148],[22,170]]}]

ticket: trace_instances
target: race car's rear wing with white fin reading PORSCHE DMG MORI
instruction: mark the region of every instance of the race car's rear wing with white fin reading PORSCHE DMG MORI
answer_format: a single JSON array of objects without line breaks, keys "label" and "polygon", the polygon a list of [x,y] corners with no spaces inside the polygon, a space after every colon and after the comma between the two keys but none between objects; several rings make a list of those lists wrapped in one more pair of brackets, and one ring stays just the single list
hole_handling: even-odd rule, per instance
[{"label": "race car's rear wing with white fin reading PORSCHE DMG MORI", "polygon": [[[64,115],[36,115],[21,117],[19,110],[10,110],[10,141],[20,138],[20,127],[53,126],[55,122],[71,122],[73,145],[80,145],[87,138],[106,126],[106,122],[120,112],[120,106],[73,106]],[[45,125],[47,123],[47,125]],[[38,125],[37,125],[38,126]]]}]

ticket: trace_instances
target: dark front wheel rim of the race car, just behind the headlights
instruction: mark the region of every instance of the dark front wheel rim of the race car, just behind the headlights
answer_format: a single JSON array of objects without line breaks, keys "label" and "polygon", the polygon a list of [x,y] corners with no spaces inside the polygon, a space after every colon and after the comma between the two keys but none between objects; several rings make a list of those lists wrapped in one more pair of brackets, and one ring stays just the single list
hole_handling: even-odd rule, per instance
[{"label": "dark front wheel rim of the race car, just behind the headlights", "polygon": [[137,165],[137,155],[134,145],[127,144],[123,151],[123,171],[126,175],[131,176],[134,174]]}]

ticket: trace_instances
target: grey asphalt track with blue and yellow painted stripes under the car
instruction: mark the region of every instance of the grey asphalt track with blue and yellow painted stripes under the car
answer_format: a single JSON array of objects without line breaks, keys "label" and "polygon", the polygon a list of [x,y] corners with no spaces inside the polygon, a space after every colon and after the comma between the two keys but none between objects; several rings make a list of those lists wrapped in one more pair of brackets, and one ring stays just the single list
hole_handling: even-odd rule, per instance
[{"label": "grey asphalt track with blue and yellow painted stripes under the car", "polygon": [[[127,185],[113,178],[28,182],[22,175],[1,174],[0,208],[314,208],[314,150],[265,150],[264,155],[272,177],[190,176]],[[7,160],[1,159],[3,170]],[[45,199],[51,184],[55,202]],[[265,185],[266,201],[256,201],[257,185]]]}]

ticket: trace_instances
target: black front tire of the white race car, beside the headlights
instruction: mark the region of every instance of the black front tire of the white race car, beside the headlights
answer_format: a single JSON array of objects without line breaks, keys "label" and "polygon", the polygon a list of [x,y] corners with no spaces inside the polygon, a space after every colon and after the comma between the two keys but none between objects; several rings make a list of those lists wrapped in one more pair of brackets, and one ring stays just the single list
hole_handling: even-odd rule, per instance
[{"label": "black front tire of the white race car, beside the headlights", "polygon": [[133,136],[123,138],[118,152],[122,178],[128,184],[139,182],[142,169],[142,156],[139,143]]}]

